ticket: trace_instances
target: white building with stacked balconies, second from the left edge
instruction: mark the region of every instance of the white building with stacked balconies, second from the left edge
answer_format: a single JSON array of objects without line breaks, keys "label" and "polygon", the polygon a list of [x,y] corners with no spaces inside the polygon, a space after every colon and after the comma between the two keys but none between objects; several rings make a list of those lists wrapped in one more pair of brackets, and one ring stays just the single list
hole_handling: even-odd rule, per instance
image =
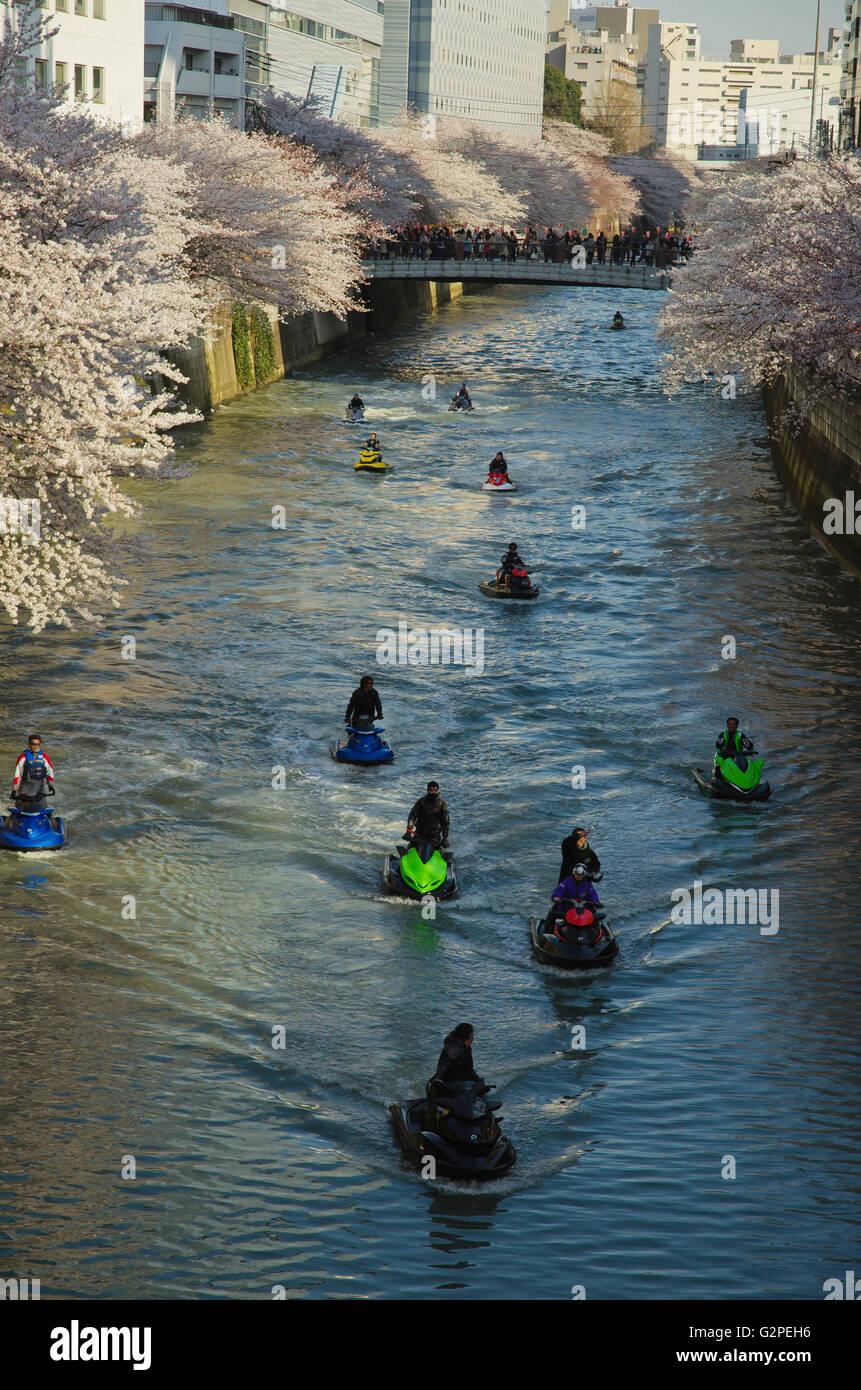
[{"label": "white building with stacked balconies, second from the left edge", "polygon": [[143,114],[147,121],[221,114],[245,125],[245,35],[227,0],[146,4]]}]

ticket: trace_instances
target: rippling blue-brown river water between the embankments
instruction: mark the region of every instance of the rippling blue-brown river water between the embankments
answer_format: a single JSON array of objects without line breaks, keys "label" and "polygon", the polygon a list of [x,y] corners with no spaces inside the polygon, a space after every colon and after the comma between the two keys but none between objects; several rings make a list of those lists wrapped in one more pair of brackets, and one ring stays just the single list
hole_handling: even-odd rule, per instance
[{"label": "rippling blue-brown river water between the embankments", "polygon": [[[822,1298],[854,1268],[857,581],[784,502],[758,402],[668,403],[659,296],[625,299],[623,334],[615,307],[469,297],[218,410],[184,478],[134,485],[149,555],[104,628],[4,632],[1,752],[42,730],[70,838],[0,856],[1,1276]],[[445,410],[462,377],[469,418]],[[384,480],[351,470],[356,385]],[[497,448],[506,500],[478,491]],[[509,539],[534,605],[477,591]],[[484,674],[378,664],[401,620],[481,626]],[[388,769],[328,755],[363,670]],[[729,713],[766,806],[695,790]],[[428,776],[462,883],[435,922],[380,892]],[[526,927],[574,823],[622,948],[584,979]],[[672,922],[695,880],[776,890],[779,931]],[[519,1152],[478,1193],[421,1182],[387,1122],[463,1019]]]}]

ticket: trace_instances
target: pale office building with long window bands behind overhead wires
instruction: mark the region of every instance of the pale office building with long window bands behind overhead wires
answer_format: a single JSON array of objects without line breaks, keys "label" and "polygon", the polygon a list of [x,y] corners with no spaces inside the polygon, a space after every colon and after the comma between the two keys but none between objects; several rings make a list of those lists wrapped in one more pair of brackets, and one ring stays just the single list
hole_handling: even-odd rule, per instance
[{"label": "pale office building with long window bands behind overhead wires", "polygon": [[246,96],[323,99],[349,125],[377,125],[383,0],[230,0],[246,36]]}]

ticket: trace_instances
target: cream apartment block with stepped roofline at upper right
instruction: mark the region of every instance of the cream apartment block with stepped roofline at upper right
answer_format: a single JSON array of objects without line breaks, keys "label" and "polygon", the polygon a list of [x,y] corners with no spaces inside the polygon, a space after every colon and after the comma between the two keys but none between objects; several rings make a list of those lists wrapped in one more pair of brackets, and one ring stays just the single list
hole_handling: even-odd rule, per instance
[{"label": "cream apartment block with stepped roofline at upper right", "polygon": [[[815,117],[825,118],[837,92],[840,64],[833,35],[816,64]],[[701,58],[695,25],[658,24],[650,28],[645,61],[645,124],[658,147],[687,158],[744,157],[750,132],[740,124],[755,113],[758,131],[775,143],[807,145],[814,104],[814,54],[780,54],[776,39],[733,39],[729,58]],[[757,145],[759,139],[757,139]]]}]

